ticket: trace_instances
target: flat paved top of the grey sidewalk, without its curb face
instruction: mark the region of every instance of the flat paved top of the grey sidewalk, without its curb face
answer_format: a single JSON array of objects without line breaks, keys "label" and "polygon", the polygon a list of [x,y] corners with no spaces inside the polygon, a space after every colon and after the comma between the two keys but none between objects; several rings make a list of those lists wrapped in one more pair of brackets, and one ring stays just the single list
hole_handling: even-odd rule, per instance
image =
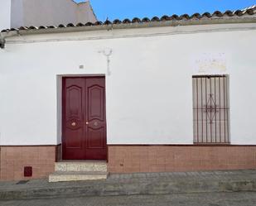
[{"label": "flat paved top of the grey sidewalk, without its curb face", "polygon": [[115,182],[133,182],[150,180],[256,180],[256,170],[217,170],[198,172],[170,172],[170,173],[133,173],[109,175],[107,180],[88,180],[77,182],[49,183],[47,179],[29,181],[0,181],[2,189],[29,189],[29,188],[55,188],[73,187],[84,184],[104,184]]}]

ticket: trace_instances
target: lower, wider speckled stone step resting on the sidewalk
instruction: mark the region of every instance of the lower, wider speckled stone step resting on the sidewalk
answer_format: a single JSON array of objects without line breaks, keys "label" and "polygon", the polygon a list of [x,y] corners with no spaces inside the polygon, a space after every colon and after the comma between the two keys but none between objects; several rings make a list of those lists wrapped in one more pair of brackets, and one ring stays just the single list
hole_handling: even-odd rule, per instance
[{"label": "lower, wider speckled stone step resting on the sidewalk", "polygon": [[49,182],[105,180],[107,177],[108,173],[101,171],[56,171],[49,175]]}]

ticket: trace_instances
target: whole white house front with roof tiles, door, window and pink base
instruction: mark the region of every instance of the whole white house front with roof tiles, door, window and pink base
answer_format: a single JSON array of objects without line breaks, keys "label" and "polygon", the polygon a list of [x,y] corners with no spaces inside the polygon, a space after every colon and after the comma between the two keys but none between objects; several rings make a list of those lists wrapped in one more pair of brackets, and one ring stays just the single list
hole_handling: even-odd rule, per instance
[{"label": "whole white house front with roof tiles, door, window and pink base", "polygon": [[[1,32],[0,178],[256,168],[256,10]],[[31,177],[24,177],[30,166]]]}]

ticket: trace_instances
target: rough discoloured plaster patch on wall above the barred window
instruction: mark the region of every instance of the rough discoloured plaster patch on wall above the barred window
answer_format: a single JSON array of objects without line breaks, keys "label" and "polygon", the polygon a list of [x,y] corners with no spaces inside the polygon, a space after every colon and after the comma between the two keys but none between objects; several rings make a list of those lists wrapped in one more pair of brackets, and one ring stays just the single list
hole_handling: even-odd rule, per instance
[{"label": "rough discoloured plaster patch on wall above the barred window", "polygon": [[227,57],[225,53],[202,53],[192,57],[195,74],[226,74]]}]

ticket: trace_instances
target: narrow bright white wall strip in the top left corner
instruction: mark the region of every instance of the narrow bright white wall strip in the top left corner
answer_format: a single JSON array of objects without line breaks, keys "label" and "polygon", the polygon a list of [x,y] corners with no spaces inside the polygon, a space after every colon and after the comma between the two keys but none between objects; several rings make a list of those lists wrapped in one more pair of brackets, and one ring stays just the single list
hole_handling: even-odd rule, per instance
[{"label": "narrow bright white wall strip in the top left corner", "polygon": [[11,1],[3,0],[0,6],[0,31],[11,25]]}]

